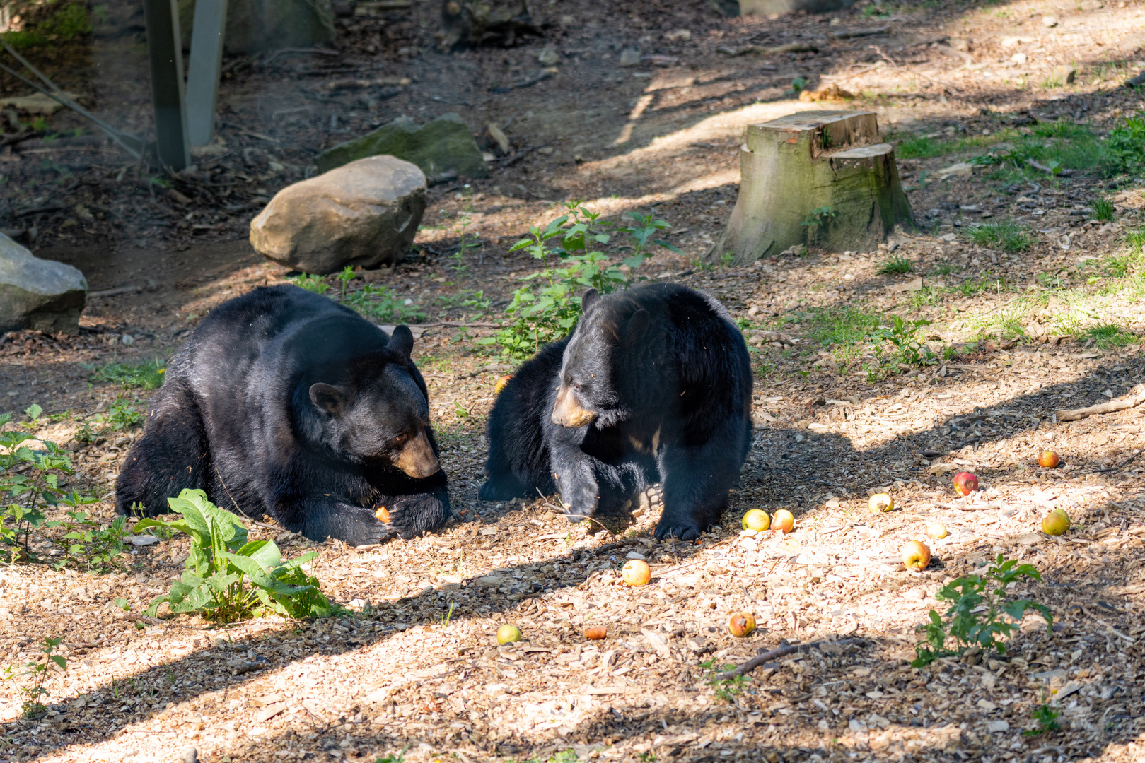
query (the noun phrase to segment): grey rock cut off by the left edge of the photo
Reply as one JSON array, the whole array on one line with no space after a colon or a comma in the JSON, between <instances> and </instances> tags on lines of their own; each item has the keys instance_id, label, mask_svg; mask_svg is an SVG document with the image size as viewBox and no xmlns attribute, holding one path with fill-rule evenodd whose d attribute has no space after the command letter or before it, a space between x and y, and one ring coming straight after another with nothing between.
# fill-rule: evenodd
<instances>
[{"instance_id":1,"label":"grey rock cut off by the left edge of the photo","mask_svg":"<svg viewBox=\"0 0 1145 763\"><path fill-rule=\"evenodd\" d=\"M79 329L87 279L71 265L40 260L0 233L0 332Z\"/></svg>"}]
</instances>

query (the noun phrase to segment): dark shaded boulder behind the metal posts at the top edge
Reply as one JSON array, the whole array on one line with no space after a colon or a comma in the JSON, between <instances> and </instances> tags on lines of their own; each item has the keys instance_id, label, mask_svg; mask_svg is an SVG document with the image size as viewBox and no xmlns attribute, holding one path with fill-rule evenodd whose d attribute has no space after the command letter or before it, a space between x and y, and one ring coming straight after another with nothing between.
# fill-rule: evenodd
<instances>
[{"instance_id":1,"label":"dark shaded boulder behind the metal posts at the top edge","mask_svg":"<svg viewBox=\"0 0 1145 763\"><path fill-rule=\"evenodd\" d=\"M195 0L179 0L179 29L183 47L191 46ZM334 45L334 11L331 0L229 0L227 55L311 48Z\"/></svg>"}]
</instances>

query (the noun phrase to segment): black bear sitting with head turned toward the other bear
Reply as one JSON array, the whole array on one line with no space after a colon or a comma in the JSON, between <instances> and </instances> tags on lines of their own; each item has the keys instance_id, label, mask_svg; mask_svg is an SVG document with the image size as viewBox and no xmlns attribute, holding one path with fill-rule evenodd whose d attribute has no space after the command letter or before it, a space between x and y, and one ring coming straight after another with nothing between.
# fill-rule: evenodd
<instances>
[{"instance_id":1,"label":"black bear sitting with head turned toward the other bear","mask_svg":"<svg viewBox=\"0 0 1145 763\"><path fill-rule=\"evenodd\" d=\"M695 540L751 445L751 360L719 302L678 284L599 296L528 360L489 416L485 501L560 490L569 517L661 483L656 538Z\"/></svg>"}]
</instances>

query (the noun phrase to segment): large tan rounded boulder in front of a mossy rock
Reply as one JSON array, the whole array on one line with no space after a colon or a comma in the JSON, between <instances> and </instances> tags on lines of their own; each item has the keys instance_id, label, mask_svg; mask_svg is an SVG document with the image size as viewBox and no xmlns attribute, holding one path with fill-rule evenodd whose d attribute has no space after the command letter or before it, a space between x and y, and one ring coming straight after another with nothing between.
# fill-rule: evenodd
<instances>
[{"instance_id":1,"label":"large tan rounded boulder in front of a mossy rock","mask_svg":"<svg viewBox=\"0 0 1145 763\"><path fill-rule=\"evenodd\" d=\"M401 261L426 210L426 177L394 157L369 157L287 185L251 221L262 256L308 273Z\"/></svg>"}]
</instances>

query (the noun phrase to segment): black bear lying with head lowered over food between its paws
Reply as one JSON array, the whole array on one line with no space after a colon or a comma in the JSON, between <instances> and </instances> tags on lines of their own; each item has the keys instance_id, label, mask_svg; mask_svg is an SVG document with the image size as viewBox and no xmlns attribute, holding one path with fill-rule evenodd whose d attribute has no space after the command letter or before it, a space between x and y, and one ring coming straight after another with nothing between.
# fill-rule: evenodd
<instances>
[{"instance_id":1,"label":"black bear lying with head lowered over food between its paws","mask_svg":"<svg viewBox=\"0 0 1145 763\"><path fill-rule=\"evenodd\" d=\"M449 493L412 348L406 326L387 337L297 286L220 304L167 365L116 510L165 514L192 487L311 540L361 546L440 528Z\"/></svg>"}]
</instances>

